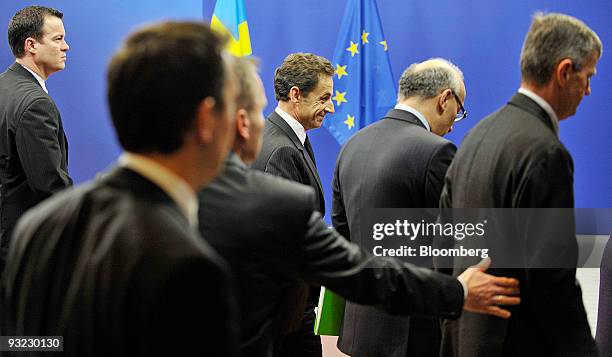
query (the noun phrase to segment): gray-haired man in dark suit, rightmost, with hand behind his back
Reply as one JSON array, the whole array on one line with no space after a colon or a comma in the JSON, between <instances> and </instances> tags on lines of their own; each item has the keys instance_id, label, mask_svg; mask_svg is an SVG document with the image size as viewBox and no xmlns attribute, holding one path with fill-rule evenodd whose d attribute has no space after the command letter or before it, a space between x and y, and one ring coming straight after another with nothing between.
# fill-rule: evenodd
<instances>
[{"instance_id":1,"label":"gray-haired man in dark suit, rightmost, with hand behind his back","mask_svg":"<svg viewBox=\"0 0 612 357\"><path fill-rule=\"evenodd\" d=\"M504 249L501 258L519 250L520 261L494 272L520 281L522 303L508 320L466 313L446 323L445 355L597 355L575 277L573 162L558 130L559 120L574 115L590 94L601 53L599 37L580 20L536 14L521 52L518 93L473 128L457 151L441 207L522 212L488 242ZM555 212L569 214L546 220ZM456 262L456 273L462 265Z\"/></svg>"}]
</instances>

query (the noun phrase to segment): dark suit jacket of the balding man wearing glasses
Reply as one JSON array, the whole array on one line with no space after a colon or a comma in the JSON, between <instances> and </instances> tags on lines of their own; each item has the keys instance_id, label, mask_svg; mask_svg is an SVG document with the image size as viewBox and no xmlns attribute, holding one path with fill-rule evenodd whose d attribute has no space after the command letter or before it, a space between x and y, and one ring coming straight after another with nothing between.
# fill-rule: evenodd
<instances>
[{"instance_id":1,"label":"dark suit jacket of the balding man wearing glasses","mask_svg":"<svg viewBox=\"0 0 612 357\"><path fill-rule=\"evenodd\" d=\"M355 134L340 152L332 185L334 227L363 245L371 234L361 231L368 208L437 208L455 150L411 113L391 110ZM433 266L431 259L412 262ZM435 319L393 316L348 303L338 346L354 356L437 357L440 327Z\"/></svg>"}]
</instances>

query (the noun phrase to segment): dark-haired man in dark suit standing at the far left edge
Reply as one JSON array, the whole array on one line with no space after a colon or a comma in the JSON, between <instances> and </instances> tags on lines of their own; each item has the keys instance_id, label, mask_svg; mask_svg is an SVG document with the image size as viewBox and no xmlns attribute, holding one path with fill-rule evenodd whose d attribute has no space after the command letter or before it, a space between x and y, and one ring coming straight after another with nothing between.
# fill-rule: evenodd
<instances>
[{"instance_id":1,"label":"dark-haired man in dark suit standing at the far left edge","mask_svg":"<svg viewBox=\"0 0 612 357\"><path fill-rule=\"evenodd\" d=\"M45 81L66 66L63 14L18 11L8 27L15 63L0 74L0 276L19 217L72 185L68 142Z\"/></svg>"}]
</instances>

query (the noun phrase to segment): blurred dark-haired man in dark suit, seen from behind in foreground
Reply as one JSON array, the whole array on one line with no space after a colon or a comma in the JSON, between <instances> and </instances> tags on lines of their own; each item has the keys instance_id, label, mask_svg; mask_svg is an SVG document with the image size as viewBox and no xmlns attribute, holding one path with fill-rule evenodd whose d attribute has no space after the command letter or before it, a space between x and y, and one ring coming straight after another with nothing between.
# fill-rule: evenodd
<instances>
[{"instance_id":1,"label":"blurred dark-haired man in dark suit, seen from behind in foreground","mask_svg":"<svg viewBox=\"0 0 612 357\"><path fill-rule=\"evenodd\" d=\"M63 336L69 356L234 355L228 268L195 232L195 192L233 142L235 83L222 48L198 23L128 37L108 69L125 153L20 220L0 335Z\"/></svg>"}]
</instances>

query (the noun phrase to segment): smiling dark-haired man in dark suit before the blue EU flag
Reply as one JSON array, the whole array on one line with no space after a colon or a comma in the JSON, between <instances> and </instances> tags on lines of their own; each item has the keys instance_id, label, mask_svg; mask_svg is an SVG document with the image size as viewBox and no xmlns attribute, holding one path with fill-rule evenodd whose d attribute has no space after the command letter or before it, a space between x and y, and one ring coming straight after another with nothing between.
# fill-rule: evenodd
<instances>
[{"instance_id":1,"label":"smiling dark-haired man in dark suit before the blue EU flag","mask_svg":"<svg viewBox=\"0 0 612 357\"><path fill-rule=\"evenodd\" d=\"M321 127L332 102L334 67L329 60L311 54L294 53L274 73L274 95L278 106L268 116L263 146L253 168L312 187L315 207L325 214L323 186L317 172L310 139L306 132ZM299 283L287 298L288 334L279 356L321 356L321 341L314 335L314 308L319 288ZM305 308L304 308L305 306Z\"/></svg>"}]
</instances>

